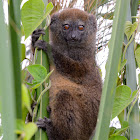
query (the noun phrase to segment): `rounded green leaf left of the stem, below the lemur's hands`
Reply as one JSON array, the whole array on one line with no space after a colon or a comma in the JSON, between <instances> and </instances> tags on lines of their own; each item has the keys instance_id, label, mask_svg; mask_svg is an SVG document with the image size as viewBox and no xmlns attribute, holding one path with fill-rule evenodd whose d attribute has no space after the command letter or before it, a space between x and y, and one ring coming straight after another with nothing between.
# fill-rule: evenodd
<instances>
[{"instance_id":1,"label":"rounded green leaf left of the stem, below the lemur's hands","mask_svg":"<svg viewBox=\"0 0 140 140\"><path fill-rule=\"evenodd\" d=\"M33 78L36 81L43 81L45 77L47 76L47 70L44 66L35 64L35 65L30 65L27 67L29 73L33 76Z\"/></svg>"}]
</instances>

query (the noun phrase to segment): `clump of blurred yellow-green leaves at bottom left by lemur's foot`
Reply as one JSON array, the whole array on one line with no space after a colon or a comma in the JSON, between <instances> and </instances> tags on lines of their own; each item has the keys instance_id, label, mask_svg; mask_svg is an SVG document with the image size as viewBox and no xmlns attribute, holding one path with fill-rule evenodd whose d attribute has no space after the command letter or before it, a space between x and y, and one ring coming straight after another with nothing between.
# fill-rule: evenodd
<instances>
[{"instance_id":1,"label":"clump of blurred yellow-green leaves at bottom left by lemur's foot","mask_svg":"<svg viewBox=\"0 0 140 140\"><path fill-rule=\"evenodd\" d=\"M25 124L22 120L17 120L17 128L16 134L20 135L19 139L23 140L31 140L32 136L38 130L37 125L35 123L27 123Z\"/></svg>"}]
</instances>

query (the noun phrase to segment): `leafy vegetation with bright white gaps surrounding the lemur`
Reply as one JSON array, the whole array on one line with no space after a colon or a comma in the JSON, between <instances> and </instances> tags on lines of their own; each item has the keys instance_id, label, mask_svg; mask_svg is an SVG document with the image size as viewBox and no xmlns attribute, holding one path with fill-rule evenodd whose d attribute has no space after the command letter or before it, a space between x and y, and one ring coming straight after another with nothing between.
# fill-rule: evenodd
<instances>
[{"instance_id":1,"label":"leafy vegetation with bright white gaps surrounding the lemur","mask_svg":"<svg viewBox=\"0 0 140 140\"><path fill-rule=\"evenodd\" d=\"M5 20L3 10L6 8L3 5L5 2L8 3L8 20ZM49 25L50 22L49 14L66 7L84 9L97 17L96 53L102 69L104 87L94 139L140 139L138 100L140 1L29 0L23 3L22 0L0 1L0 13L2 13L0 17L0 112L2 114L0 134L2 139L47 139L43 131L37 131L34 122L38 117L47 116L48 89L51 85L48 80L51 74L48 72L48 58L42 51L36 51L33 58L30 55L30 47L28 45L25 47L26 41L22 41L21 44L21 40L25 40L37 27L46 28L46 24ZM44 39L49 41L48 29ZM27 40L30 40L30 37ZM108 51L110 53L106 64ZM23 63L25 66L20 68ZM43 74L38 77L38 73ZM37 105L32 112L30 106L35 100ZM25 124L28 112L33 115L33 119L32 122ZM116 116L119 119L119 128L116 126L109 128L110 120Z\"/></svg>"}]
</instances>

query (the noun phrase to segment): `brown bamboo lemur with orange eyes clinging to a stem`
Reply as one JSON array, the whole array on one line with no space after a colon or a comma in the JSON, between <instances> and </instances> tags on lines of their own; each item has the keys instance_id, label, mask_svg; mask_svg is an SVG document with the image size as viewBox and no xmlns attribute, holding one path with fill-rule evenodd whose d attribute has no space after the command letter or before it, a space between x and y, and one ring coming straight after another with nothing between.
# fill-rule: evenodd
<instances>
[{"instance_id":1,"label":"brown bamboo lemur with orange eyes clinging to a stem","mask_svg":"<svg viewBox=\"0 0 140 140\"><path fill-rule=\"evenodd\" d=\"M47 53L42 30L32 35L33 47ZM96 19L78 9L52 15L50 45L50 119L39 119L49 140L89 140L96 127L102 82L95 62Z\"/></svg>"}]
</instances>

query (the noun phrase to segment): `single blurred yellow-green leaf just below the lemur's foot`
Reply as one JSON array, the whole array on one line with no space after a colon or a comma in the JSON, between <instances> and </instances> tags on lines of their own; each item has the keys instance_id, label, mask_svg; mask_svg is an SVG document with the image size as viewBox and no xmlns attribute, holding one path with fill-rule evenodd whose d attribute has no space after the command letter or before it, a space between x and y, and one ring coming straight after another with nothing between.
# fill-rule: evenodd
<instances>
[{"instance_id":1,"label":"single blurred yellow-green leaf just below the lemur's foot","mask_svg":"<svg viewBox=\"0 0 140 140\"><path fill-rule=\"evenodd\" d=\"M32 136L37 132L38 128L35 123L28 123L25 125L25 137L23 140L30 140Z\"/></svg>"}]
</instances>

